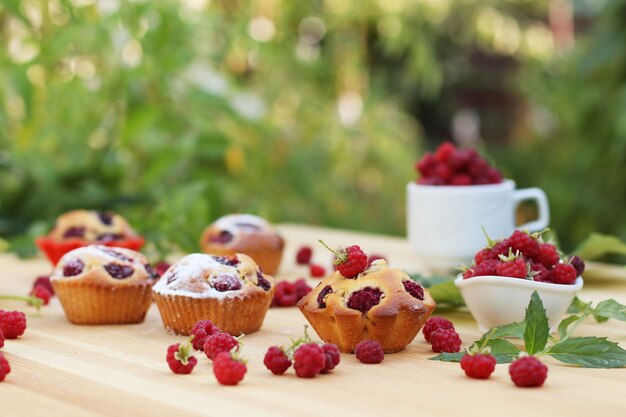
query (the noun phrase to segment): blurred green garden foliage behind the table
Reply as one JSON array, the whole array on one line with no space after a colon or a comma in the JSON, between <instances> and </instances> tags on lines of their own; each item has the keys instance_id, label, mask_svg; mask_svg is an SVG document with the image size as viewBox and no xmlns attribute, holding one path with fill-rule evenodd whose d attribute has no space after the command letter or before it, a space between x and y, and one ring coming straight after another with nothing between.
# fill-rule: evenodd
<instances>
[{"instance_id":1,"label":"blurred green garden foliage behind the table","mask_svg":"<svg viewBox=\"0 0 626 417\"><path fill-rule=\"evenodd\" d=\"M559 53L547 7L5 1L0 236L32 253L77 207L123 213L162 251L195 249L230 212L401 235L413 164L444 139L425 126L450 120L479 51L516 65L488 83L553 123L478 146L546 190L565 247L625 238L626 0L587 10L592 29Z\"/></svg>"}]
</instances>

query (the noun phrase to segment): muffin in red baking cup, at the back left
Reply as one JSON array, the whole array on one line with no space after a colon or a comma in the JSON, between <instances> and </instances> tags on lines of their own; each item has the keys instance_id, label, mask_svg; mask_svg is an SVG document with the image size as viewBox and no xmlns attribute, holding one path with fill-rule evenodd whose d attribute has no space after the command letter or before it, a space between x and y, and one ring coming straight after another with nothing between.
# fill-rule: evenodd
<instances>
[{"instance_id":1,"label":"muffin in red baking cup, at the back left","mask_svg":"<svg viewBox=\"0 0 626 417\"><path fill-rule=\"evenodd\" d=\"M60 216L52 231L37 245L56 264L67 252L98 244L139 250L144 239L126 219L111 211L74 210Z\"/></svg>"}]
</instances>

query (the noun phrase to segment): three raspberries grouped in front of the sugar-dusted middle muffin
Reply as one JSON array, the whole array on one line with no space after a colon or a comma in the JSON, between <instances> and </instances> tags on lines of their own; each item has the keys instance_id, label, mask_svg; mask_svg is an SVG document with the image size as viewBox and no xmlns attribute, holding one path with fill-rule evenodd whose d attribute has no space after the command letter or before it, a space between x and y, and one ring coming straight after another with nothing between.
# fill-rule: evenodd
<instances>
[{"instance_id":1,"label":"three raspberries grouped in front of the sugar-dusted middle muffin","mask_svg":"<svg viewBox=\"0 0 626 417\"><path fill-rule=\"evenodd\" d=\"M192 349L204 351L213 361L213 374L221 385L237 385L247 371L246 361L239 357L239 340L223 333L210 320L201 320L191 329L187 343L175 343L167 348L166 361L172 372L189 374L198 364Z\"/></svg>"}]
</instances>

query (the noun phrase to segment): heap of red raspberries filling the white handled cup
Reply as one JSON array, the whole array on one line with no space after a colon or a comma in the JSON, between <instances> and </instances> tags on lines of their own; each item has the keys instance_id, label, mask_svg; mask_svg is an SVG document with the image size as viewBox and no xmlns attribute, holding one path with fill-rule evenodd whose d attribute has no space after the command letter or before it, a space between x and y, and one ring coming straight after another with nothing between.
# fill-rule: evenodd
<instances>
[{"instance_id":1,"label":"heap of red raspberries filling the white handled cup","mask_svg":"<svg viewBox=\"0 0 626 417\"><path fill-rule=\"evenodd\" d=\"M418 184L422 185L483 185L502 182L502 174L474 149L457 149L444 142L434 154L426 152L416 163Z\"/></svg>"}]
</instances>

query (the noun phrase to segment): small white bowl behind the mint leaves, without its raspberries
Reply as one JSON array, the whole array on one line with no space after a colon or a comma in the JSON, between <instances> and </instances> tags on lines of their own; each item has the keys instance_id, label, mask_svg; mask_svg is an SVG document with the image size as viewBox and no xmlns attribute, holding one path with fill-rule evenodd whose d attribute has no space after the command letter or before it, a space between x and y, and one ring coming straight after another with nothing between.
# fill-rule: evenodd
<instances>
[{"instance_id":1,"label":"small white bowl behind the mint leaves, without its raspberries","mask_svg":"<svg viewBox=\"0 0 626 417\"><path fill-rule=\"evenodd\" d=\"M454 284L483 333L492 327L524 320L533 291L541 297L550 329L554 331L583 287L583 279L578 277L574 284L564 285L492 275L464 279L459 274Z\"/></svg>"}]
</instances>

